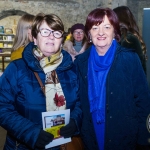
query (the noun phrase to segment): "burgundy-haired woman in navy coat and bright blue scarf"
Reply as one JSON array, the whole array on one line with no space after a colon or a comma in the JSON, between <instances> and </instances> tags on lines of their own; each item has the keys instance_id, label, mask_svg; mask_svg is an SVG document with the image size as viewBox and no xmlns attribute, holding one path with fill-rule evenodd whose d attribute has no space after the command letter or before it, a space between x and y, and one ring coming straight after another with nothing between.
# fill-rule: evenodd
<instances>
[{"instance_id":1,"label":"burgundy-haired woman in navy coat and bright blue scarf","mask_svg":"<svg viewBox=\"0 0 150 150\"><path fill-rule=\"evenodd\" d=\"M138 55L118 44L110 8L92 10L85 33L92 45L75 59L86 150L134 150L150 145L150 91Z\"/></svg>"}]
</instances>

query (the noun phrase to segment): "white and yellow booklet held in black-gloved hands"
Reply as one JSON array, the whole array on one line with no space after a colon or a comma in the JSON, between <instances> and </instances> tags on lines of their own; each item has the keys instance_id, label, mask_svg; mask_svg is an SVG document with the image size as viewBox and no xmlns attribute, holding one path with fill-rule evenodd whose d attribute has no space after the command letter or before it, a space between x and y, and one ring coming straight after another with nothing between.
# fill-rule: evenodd
<instances>
[{"instance_id":1,"label":"white and yellow booklet held in black-gloved hands","mask_svg":"<svg viewBox=\"0 0 150 150\"><path fill-rule=\"evenodd\" d=\"M54 140L50 142L45 148L51 148L61 144L71 142L70 138L60 136L60 128L69 123L70 109L42 112L43 130L54 135Z\"/></svg>"}]
</instances>

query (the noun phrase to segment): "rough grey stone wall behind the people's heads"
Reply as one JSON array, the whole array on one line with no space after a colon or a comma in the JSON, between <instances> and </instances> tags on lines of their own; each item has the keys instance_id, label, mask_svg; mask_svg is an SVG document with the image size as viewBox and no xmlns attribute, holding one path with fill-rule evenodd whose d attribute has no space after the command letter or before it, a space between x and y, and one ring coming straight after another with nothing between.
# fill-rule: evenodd
<instances>
[{"instance_id":1,"label":"rough grey stone wall behind the people's heads","mask_svg":"<svg viewBox=\"0 0 150 150\"><path fill-rule=\"evenodd\" d=\"M61 17L67 31L74 23L84 24L88 13L97 7L115 8L121 5L129 6L142 30L143 8L150 7L149 0L0 0L0 25L11 28L18 21L21 14L11 15L11 11L34 15L39 12L55 13Z\"/></svg>"}]
</instances>

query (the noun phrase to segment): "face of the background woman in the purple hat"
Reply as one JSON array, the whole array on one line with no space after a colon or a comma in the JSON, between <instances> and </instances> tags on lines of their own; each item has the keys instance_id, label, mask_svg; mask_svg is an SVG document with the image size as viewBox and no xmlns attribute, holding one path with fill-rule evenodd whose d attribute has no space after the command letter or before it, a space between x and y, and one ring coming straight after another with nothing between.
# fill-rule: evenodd
<instances>
[{"instance_id":1,"label":"face of the background woman in the purple hat","mask_svg":"<svg viewBox=\"0 0 150 150\"><path fill-rule=\"evenodd\" d=\"M84 38L84 31L82 29L74 30L73 37L77 42L81 42Z\"/></svg>"}]
</instances>

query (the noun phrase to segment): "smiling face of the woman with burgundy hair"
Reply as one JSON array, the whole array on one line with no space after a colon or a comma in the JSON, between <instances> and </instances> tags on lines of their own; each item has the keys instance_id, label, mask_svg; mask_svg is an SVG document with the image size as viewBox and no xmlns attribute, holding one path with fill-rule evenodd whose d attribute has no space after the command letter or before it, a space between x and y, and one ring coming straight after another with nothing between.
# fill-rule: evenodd
<instances>
[{"instance_id":1,"label":"smiling face of the woman with burgundy hair","mask_svg":"<svg viewBox=\"0 0 150 150\"><path fill-rule=\"evenodd\" d=\"M115 36L114 28L110 24L108 17L105 15L101 24L93 25L89 34L98 54L105 55Z\"/></svg>"}]
</instances>

